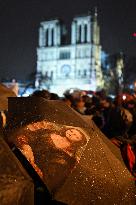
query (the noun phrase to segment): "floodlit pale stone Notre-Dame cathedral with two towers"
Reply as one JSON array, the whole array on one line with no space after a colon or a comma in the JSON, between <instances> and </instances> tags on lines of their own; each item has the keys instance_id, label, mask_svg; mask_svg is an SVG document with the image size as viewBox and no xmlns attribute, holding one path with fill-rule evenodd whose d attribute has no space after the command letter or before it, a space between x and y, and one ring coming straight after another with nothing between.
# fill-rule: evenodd
<instances>
[{"instance_id":1,"label":"floodlit pale stone Notre-Dame cathedral with two towers","mask_svg":"<svg viewBox=\"0 0 136 205\"><path fill-rule=\"evenodd\" d=\"M69 88L102 88L97 12L93 16L78 16L73 19L70 43L65 42L65 31L64 25L58 19L40 24L37 73L44 79L40 86L60 95Z\"/></svg>"}]
</instances>

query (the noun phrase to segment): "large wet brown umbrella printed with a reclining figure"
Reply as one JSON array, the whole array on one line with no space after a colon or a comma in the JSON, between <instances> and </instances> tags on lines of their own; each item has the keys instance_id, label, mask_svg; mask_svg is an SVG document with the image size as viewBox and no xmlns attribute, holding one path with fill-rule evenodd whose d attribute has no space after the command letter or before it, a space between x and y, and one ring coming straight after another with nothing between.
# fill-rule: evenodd
<instances>
[{"instance_id":1,"label":"large wet brown umbrella printed with a reclining figure","mask_svg":"<svg viewBox=\"0 0 136 205\"><path fill-rule=\"evenodd\" d=\"M92 123L60 101L9 99L10 141L53 197L69 205L135 204L132 176L120 153Z\"/></svg>"}]
</instances>

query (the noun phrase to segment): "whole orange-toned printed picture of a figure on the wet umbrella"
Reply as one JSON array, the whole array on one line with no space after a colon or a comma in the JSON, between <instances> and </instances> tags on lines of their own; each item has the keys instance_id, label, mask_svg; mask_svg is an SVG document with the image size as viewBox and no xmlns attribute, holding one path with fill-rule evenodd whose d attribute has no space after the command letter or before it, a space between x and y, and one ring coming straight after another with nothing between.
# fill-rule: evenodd
<instances>
[{"instance_id":1,"label":"whole orange-toned printed picture of a figure on the wet umbrella","mask_svg":"<svg viewBox=\"0 0 136 205\"><path fill-rule=\"evenodd\" d=\"M15 133L15 144L51 191L79 162L88 136L79 127L41 121Z\"/></svg>"}]
</instances>

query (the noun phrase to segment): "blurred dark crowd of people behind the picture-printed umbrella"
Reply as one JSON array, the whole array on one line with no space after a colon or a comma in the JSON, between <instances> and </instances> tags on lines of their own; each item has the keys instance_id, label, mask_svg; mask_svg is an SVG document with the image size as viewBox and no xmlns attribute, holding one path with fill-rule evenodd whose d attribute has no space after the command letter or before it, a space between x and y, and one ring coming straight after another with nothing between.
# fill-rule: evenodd
<instances>
[{"instance_id":1,"label":"blurred dark crowd of people behind the picture-printed umbrella","mask_svg":"<svg viewBox=\"0 0 136 205\"><path fill-rule=\"evenodd\" d=\"M131 173L136 175L136 96L119 94L106 96L104 91L88 95L85 91L67 90L60 98L47 90L37 90L31 96L47 100L62 100L81 115L87 115L97 127L120 148Z\"/></svg>"}]
</instances>

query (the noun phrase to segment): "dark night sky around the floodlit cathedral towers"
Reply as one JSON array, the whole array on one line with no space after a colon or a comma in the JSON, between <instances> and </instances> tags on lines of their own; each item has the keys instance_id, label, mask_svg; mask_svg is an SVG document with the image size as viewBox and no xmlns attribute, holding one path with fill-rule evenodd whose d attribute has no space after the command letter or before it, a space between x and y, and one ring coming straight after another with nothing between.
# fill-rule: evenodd
<instances>
[{"instance_id":1,"label":"dark night sky around the floodlit cathedral towers","mask_svg":"<svg viewBox=\"0 0 136 205\"><path fill-rule=\"evenodd\" d=\"M26 80L36 70L41 21L58 17L69 26L95 6L103 50L136 56L136 0L0 0L0 78Z\"/></svg>"}]
</instances>

